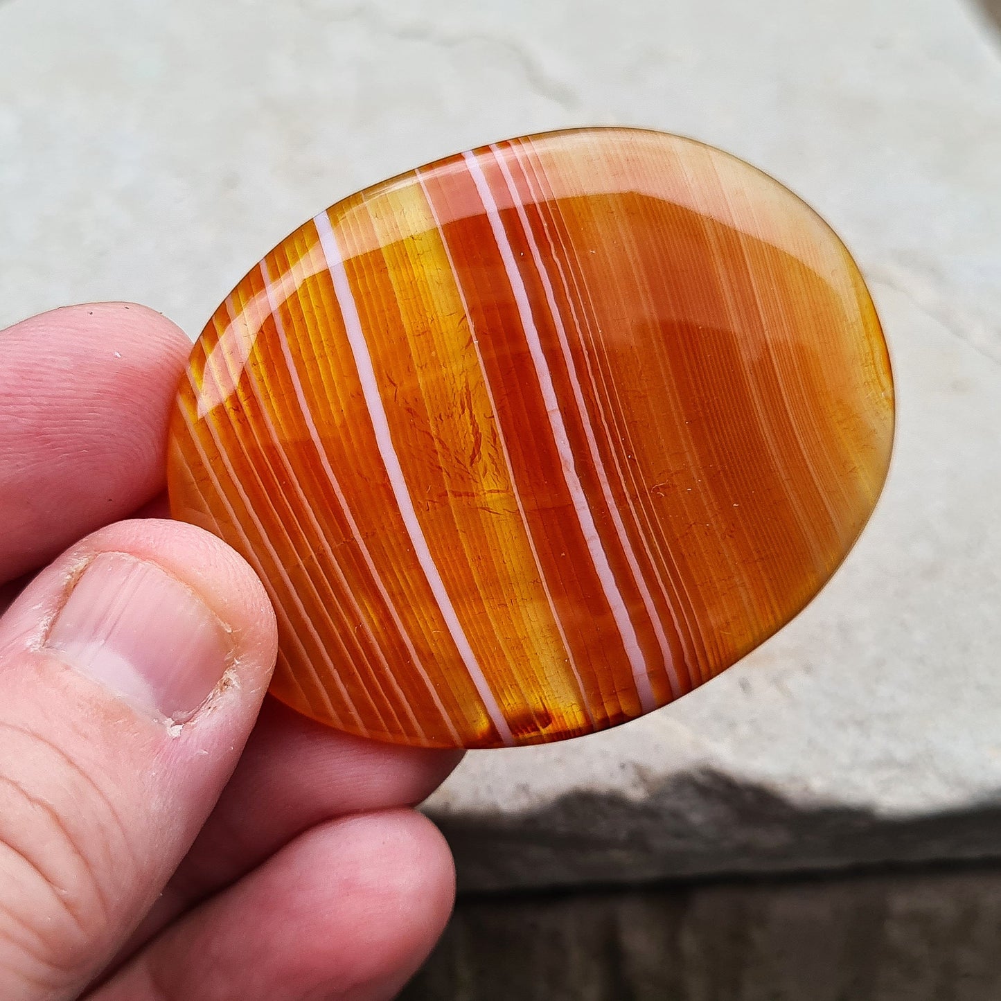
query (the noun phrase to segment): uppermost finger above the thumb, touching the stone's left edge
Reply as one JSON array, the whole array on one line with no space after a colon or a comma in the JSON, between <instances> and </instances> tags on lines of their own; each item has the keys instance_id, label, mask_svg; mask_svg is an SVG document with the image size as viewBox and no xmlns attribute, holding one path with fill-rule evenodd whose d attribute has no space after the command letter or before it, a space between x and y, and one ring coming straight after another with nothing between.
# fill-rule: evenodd
<instances>
[{"instance_id":1,"label":"uppermost finger above the thumb, touching the stone's left edge","mask_svg":"<svg viewBox=\"0 0 1001 1001\"><path fill-rule=\"evenodd\" d=\"M167 421L190 341L122 302L0 331L0 583L162 490Z\"/></svg>"}]
</instances>

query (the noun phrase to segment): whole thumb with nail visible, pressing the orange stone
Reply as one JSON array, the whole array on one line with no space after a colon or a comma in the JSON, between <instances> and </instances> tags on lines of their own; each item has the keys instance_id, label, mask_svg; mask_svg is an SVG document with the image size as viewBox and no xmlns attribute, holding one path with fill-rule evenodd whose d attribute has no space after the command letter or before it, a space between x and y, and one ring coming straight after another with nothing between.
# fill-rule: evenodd
<instances>
[{"instance_id":1,"label":"whole thumb with nail visible, pressing the orange stone","mask_svg":"<svg viewBox=\"0 0 1001 1001\"><path fill-rule=\"evenodd\" d=\"M123 522L0 619L0 997L74 997L180 862L253 726L274 617L191 526Z\"/></svg>"}]
</instances>

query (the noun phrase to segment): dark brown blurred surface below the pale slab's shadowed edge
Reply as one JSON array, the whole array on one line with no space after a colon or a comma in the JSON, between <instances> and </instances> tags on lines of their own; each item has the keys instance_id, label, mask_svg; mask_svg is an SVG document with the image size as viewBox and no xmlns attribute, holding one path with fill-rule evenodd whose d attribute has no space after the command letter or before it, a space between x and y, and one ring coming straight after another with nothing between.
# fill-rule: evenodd
<instances>
[{"instance_id":1,"label":"dark brown blurred surface below the pale slab's shadowed edge","mask_svg":"<svg viewBox=\"0 0 1001 1001\"><path fill-rule=\"evenodd\" d=\"M997 1001L1001 867L459 900L401 1001Z\"/></svg>"}]
</instances>

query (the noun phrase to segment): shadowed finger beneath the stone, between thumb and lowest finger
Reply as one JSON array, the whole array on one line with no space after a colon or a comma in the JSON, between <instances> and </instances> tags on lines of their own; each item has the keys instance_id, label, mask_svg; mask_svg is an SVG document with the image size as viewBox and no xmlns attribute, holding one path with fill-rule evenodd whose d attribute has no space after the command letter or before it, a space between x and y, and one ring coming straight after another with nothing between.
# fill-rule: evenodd
<instances>
[{"instance_id":1,"label":"shadowed finger beneath the stone, between thumb and lowest finger","mask_svg":"<svg viewBox=\"0 0 1001 1001\"><path fill-rule=\"evenodd\" d=\"M461 752L396 747L338 733L265 700L218 805L126 953L308 828L347 814L419 803L460 759Z\"/></svg>"}]
</instances>

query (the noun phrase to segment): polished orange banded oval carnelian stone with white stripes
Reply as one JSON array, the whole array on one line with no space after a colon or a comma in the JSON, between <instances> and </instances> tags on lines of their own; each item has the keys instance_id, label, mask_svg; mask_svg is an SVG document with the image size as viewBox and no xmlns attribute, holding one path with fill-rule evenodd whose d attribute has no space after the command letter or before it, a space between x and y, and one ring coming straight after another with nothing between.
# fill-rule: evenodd
<instances>
[{"instance_id":1,"label":"polished orange banded oval carnelian stone with white stripes","mask_svg":"<svg viewBox=\"0 0 1001 1001\"><path fill-rule=\"evenodd\" d=\"M698 142L582 129L282 240L195 345L170 500L267 587L280 700L382 741L532 744L788 622L892 436L872 301L810 208Z\"/></svg>"}]
</instances>

